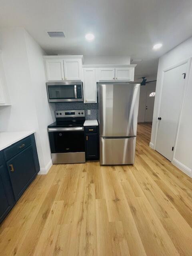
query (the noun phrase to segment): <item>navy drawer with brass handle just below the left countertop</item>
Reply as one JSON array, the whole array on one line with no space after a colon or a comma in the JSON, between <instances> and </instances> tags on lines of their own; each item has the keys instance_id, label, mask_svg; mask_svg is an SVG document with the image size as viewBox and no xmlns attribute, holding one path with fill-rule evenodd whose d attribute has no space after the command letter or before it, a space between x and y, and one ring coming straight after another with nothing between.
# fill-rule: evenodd
<instances>
[{"instance_id":1,"label":"navy drawer with brass handle just below the left countertop","mask_svg":"<svg viewBox=\"0 0 192 256\"><path fill-rule=\"evenodd\" d=\"M4 150L4 157L5 160L8 160L27 148L30 144L32 144L31 137L28 136L27 138L24 138L23 140L20 140L19 142L16 142L12 146L6 148Z\"/></svg>"}]
</instances>

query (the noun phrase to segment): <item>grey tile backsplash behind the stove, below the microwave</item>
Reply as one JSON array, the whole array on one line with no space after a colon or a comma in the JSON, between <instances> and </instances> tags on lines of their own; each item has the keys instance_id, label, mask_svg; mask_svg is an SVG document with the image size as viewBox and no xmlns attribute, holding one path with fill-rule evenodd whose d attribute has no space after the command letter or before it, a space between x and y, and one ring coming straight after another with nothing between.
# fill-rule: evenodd
<instances>
[{"instance_id":1,"label":"grey tile backsplash behind the stove, below the microwave","mask_svg":"<svg viewBox=\"0 0 192 256\"><path fill-rule=\"evenodd\" d=\"M85 110L85 119L98 119L98 104L83 102L59 102L55 104L55 110ZM91 110L91 114L87 114L87 110Z\"/></svg>"}]
</instances>

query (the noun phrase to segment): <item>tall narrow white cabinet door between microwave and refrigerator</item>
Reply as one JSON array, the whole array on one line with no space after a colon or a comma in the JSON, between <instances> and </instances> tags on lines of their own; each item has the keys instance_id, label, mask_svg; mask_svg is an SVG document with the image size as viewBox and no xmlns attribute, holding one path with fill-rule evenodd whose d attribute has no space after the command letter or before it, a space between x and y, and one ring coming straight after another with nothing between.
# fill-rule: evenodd
<instances>
[{"instance_id":1,"label":"tall narrow white cabinet door between microwave and refrigerator","mask_svg":"<svg viewBox=\"0 0 192 256\"><path fill-rule=\"evenodd\" d=\"M97 85L95 77L95 68L84 68L83 76L84 103L96 103Z\"/></svg>"}]
</instances>

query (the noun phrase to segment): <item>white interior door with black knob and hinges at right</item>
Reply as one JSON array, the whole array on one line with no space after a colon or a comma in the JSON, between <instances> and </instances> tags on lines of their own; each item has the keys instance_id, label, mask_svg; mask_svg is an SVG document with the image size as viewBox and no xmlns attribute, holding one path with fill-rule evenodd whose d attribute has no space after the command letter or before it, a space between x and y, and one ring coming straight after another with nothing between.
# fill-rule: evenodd
<instances>
[{"instance_id":1,"label":"white interior door with black knob and hinges at right","mask_svg":"<svg viewBox=\"0 0 192 256\"><path fill-rule=\"evenodd\" d=\"M172 161L187 64L164 72L156 151Z\"/></svg>"}]
</instances>

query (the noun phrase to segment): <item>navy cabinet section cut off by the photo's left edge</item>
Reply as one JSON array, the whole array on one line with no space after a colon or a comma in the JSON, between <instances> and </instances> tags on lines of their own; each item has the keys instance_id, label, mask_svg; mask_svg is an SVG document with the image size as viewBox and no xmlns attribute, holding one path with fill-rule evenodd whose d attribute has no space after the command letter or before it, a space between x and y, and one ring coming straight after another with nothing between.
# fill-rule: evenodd
<instances>
[{"instance_id":1,"label":"navy cabinet section cut off by the photo's left edge","mask_svg":"<svg viewBox=\"0 0 192 256\"><path fill-rule=\"evenodd\" d=\"M7 168L0 152L0 223L15 204Z\"/></svg>"}]
</instances>

